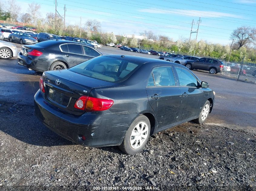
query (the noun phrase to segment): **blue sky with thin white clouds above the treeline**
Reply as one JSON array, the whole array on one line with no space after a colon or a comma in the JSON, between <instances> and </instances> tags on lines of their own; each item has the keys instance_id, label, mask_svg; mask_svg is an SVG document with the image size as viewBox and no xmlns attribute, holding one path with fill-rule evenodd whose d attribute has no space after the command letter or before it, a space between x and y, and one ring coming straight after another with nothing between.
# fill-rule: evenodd
<instances>
[{"instance_id":1,"label":"blue sky with thin white clouds above the treeline","mask_svg":"<svg viewBox=\"0 0 256 191\"><path fill-rule=\"evenodd\" d=\"M55 0L17 0L21 12L26 12L28 4L41 5L41 17L46 13L55 13ZM189 38L199 23L197 40L211 43L228 44L230 34L237 27L256 26L256 0L57 0L57 11L64 15L66 5L66 23L82 25L88 19L101 22L103 32L116 35L139 35L151 30L172 38ZM191 39L196 33L191 34Z\"/></svg>"}]
</instances>

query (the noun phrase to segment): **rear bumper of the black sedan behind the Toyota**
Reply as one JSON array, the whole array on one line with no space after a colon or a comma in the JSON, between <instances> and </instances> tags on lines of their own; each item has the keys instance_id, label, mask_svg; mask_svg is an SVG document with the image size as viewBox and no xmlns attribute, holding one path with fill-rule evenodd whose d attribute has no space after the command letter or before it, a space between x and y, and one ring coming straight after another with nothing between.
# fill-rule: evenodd
<instances>
[{"instance_id":1,"label":"rear bumper of the black sedan behind the Toyota","mask_svg":"<svg viewBox=\"0 0 256 191\"><path fill-rule=\"evenodd\" d=\"M29 56L24 56L22 53L18 53L18 64L25 66L28 69L32 69L38 72L44 72L49 70L48 62L38 61Z\"/></svg>"}]
</instances>

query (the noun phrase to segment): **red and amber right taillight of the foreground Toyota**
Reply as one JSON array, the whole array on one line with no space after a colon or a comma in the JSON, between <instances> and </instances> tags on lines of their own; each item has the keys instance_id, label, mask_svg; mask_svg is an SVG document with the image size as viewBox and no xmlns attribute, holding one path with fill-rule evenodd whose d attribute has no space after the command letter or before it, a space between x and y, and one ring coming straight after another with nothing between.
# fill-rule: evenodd
<instances>
[{"instance_id":1,"label":"red and amber right taillight of the foreground Toyota","mask_svg":"<svg viewBox=\"0 0 256 191\"><path fill-rule=\"evenodd\" d=\"M74 107L85 111L105 111L108 110L114 101L95 97L81 96Z\"/></svg>"}]
</instances>

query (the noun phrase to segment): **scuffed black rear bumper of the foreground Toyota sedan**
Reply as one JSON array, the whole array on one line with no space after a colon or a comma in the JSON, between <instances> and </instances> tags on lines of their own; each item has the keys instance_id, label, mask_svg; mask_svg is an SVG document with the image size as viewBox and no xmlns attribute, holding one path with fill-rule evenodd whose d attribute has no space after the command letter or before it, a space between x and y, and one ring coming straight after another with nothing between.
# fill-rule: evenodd
<instances>
[{"instance_id":1,"label":"scuffed black rear bumper of the foreground Toyota sedan","mask_svg":"<svg viewBox=\"0 0 256 191\"><path fill-rule=\"evenodd\" d=\"M121 145L126 131L136 113L117 115L85 112L75 116L61 112L48 103L40 90L35 94L35 115L53 132L86 147ZM107 115L106 115L107 114ZM81 136L86 140L83 141Z\"/></svg>"}]
</instances>

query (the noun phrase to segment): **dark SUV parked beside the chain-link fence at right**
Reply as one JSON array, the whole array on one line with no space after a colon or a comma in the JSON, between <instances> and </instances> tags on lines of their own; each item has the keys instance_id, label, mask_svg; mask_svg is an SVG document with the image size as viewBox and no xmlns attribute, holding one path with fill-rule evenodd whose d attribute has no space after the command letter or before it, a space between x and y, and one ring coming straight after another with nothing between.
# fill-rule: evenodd
<instances>
[{"instance_id":1,"label":"dark SUV parked beside the chain-link fence at right","mask_svg":"<svg viewBox=\"0 0 256 191\"><path fill-rule=\"evenodd\" d=\"M212 58L200 58L196 61L187 60L184 62L184 65L190 70L206 70L209 71L210 74L217 74L218 72L221 72L222 68L224 68L224 63L221 60Z\"/></svg>"}]
</instances>

